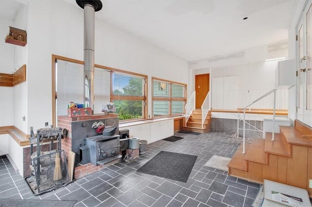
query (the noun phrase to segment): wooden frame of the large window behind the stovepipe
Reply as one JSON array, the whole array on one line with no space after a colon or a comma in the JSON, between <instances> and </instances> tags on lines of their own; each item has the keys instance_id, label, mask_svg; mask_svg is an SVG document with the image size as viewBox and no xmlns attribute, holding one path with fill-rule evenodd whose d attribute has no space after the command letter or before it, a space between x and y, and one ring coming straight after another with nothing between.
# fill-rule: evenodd
<instances>
[{"instance_id":1,"label":"wooden frame of the large window behind the stovepipe","mask_svg":"<svg viewBox=\"0 0 312 207\"><path fill-rule=\"evenodd\" d=\"M56 99L57 99L57 93L56 93L56 62L57 60L62 60L62 61L67 61L67 62L72 62L72 63L78 63L81 65L84 65L84 62L81 60L76 60L76 59L72 59L72 58L68 58L68 57L63 57L63 56L59 56L59 55L55 55L52 54L52 124L53 126L56 126ZM110 91L110 101L112 102L112 100L114 100L114 97L116 98L116 96L119 99L115 99L115 100L140 100L140 101L144 101L145 105L144 107L142 107L142 118L141 119L131 119L131 120L124 120L124 121L137 121L137 120L145 120L148 115L148 76L144 75L144 74L140 74L140 73L136 73L136 72L130 72L127 70L122 70L122 69L115 69L115 68L111 68L111 67L107 67L107 66L101 66L98 64L94 65L95 68L99 68L99 69L105 69L105 70L110 70L111 71L111 91ZM119 96L119 95L113 95L113 82L112 82L112 72L119 72L119 73L124 73L124 74L128 74L128 75L133 75L133 76L139 76L145 79L145 86L144 86L144 96L142 97L137 97L137 96ZM120 99L120 97L122 97L122 99ZM124 122L122 121L122 122Z\"/></svg>"}]
</instances>

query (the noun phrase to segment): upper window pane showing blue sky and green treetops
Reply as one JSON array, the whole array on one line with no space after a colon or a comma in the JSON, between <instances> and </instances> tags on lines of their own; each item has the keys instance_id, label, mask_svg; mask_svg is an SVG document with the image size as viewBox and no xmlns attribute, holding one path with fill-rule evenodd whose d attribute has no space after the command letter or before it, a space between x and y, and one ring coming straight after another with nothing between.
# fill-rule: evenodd
<instances>
[{"instance_id":1,"label":"upper window pane showing blue sky and green treetops","mask_svg":"<svg viewBox=\"0 0 312 207\"><path fill-rule=\"evenodd\" d=\"M143 96L143 78L113 73L113 94Z\"/></svg>"}]
</instances>

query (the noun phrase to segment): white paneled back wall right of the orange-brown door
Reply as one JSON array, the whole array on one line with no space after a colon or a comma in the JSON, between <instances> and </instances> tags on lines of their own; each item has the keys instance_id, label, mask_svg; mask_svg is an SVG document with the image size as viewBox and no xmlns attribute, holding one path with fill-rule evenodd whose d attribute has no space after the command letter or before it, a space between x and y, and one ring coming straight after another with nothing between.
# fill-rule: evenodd
<instances>
[{"instance_id":1,"label":"white paneled back wall right of the orange-brown door","mask_svg":"<svg viewBox=\"0 0 312 207\"><path fill-rule=\"evenodd\" d=\"M237 109L252 103L274 88L277 61L211 68L212 108ZM251 108L272 109L273 94ZM276 109L288 109L288 88L276 91Z\"/></svg>"}]
</instances>

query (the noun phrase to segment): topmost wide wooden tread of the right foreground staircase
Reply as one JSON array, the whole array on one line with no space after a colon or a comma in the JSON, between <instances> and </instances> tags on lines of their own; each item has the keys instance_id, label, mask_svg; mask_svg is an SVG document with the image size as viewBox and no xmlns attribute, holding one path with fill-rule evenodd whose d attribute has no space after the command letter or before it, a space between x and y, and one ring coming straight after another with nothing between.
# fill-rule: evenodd
<instances>
[{"instance_id":1,"label":"topmost wide wooden tread of the right foreground staircase","mask_svg":"<svg viewBox=\"0 0 312 207\"><path fill-rule=\"evenodd\" d=\"M281 134L289 144L312 147L312 138L301 138L302 134L293 126L279 126Z\"/></svg>"}]
</instances>

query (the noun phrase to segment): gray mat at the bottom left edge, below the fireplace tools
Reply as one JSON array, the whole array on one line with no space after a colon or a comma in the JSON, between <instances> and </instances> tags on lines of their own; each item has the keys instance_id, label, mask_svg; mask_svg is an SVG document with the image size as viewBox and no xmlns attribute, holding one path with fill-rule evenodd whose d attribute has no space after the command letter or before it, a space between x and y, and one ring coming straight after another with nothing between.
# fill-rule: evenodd
<instances>
[{"instance_id":1,"label":"gray mat at the bottom left edge, below the fireplace tools","mask_svg":"<svg viewBox=\"0 0 312 207\"><path fill-rule=\"evenodd\" d=\"M0 199L0 207L73 207L77 201Z\"/></svg>"}]
</instances>

